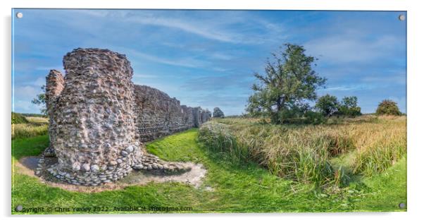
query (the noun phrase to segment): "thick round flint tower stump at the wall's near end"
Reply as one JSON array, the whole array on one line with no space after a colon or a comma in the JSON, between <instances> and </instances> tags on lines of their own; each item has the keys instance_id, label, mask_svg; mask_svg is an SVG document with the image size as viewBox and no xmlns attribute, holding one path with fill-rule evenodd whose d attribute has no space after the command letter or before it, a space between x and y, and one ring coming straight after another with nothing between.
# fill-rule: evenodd
<instances>
[{"instance_id":1,"label":"thick round flint tower stump at the wall's near end","mask_svg":"<svg viewBox=\"0 0 424 223\"><path fill-rule=\"evenodd\" d=\"M63 66L64 80L51 71L46 82L49 136L58 157L49 171L75 184L122 178L141 152L130 62L104 49L75 49L64 56Z\"/></svg>"}]
</instances>

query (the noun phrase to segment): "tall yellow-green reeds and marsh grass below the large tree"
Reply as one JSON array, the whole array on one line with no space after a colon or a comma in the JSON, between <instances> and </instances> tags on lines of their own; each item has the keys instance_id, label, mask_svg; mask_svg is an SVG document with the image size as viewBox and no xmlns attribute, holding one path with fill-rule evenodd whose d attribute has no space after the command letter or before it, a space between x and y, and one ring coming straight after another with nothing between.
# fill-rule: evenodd
<instances>
[{"instance_id":1,"label":"tall yellow-green reeds and marsh grass below the large tree","mask_svg":"<svg viewBox=\"0 0 424 223\"><path fill-rule=\"evenodd\" d=\"M199 140L212 150L254 160L277 176L339 187L349 183L350 174L381 173L406 155L406 117L368 115L318 126L216 119L200 128ZM332 164L348 152L349 165Z\"/></svg>"}]
</instances>

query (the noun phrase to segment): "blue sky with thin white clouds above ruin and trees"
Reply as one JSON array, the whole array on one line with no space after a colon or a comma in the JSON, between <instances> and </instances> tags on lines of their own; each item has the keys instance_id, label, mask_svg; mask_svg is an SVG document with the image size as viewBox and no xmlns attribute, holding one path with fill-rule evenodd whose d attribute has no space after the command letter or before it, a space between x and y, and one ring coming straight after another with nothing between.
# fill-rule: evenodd
<instances>
[{"instance_id":1,"label":"blue sky with thin white clouds above ruin and trees","mask_svg":"<svg viewBox=\"0 0 424 223\"><path fill-rule=\"evenodd\" d=\"M394 100L406 112L405 12L166 11L15 9L13 110L39 113L31 100L50 69L77 47L107 48L127 58L133 81L181 104L242 114L253 73L271 52L301 44L318 57L328 82L318 95L355 95L363 113Z\"/></svg>"}]
</instances>

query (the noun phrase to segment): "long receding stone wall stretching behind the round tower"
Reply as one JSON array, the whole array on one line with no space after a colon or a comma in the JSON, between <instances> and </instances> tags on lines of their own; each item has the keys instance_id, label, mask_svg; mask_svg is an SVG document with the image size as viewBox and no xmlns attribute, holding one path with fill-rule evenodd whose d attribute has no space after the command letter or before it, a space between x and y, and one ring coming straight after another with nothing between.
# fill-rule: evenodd
<instances>
[{"instance_id":1,"label":"long receding stone wall stretching behind the round tower","mask_svg":"<svg viewBox=\"0 0 424 223\"><path fill-rule=\"evenodd\" d=\"M135 101L141 142L199 127L210 119L200 107L180 105L179 100L145 85L135 85Z\"/></svg>"}]
</instances>

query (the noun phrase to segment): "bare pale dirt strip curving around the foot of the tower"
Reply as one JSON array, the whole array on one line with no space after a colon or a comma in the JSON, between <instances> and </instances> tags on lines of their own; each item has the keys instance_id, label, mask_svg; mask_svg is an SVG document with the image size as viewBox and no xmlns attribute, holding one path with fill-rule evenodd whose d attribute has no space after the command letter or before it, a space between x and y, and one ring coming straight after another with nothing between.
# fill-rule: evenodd
<instances>
[{"instance_id":1,"label":"bare pale dirt strip curving around the foot of the tower","mask_svg":"<svg viewBox=\"0 0 424 223\"><path fill-rule=\"evenodd\" d=\"M46 167L57 162L57 158L45 157ZM37 169L37 162L39 157L23 157L16 163L16 171L20 174L37 177L42 183L46 183L49 186L63 188L67 191L78 191L78 192L100 192L100 191L111 191L125 188L126 186L133 185L145 185L149 182L165 183L165 182L180 182L187 183L189 185L198 188L201 185L201 180L206 175L206 169L202 164L194 164L187 162L192 169L182 174L165 175L165 174L154 174L146 171L132 171L132 173L125 176L123 179L113 182L105 183L101 186L77 186L62 181L58 181L54 176L51 176L47 171L42 171L42 176L35 175L35 169Z\"/></svg>"}]
</instances>

